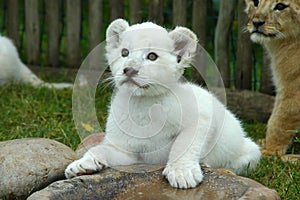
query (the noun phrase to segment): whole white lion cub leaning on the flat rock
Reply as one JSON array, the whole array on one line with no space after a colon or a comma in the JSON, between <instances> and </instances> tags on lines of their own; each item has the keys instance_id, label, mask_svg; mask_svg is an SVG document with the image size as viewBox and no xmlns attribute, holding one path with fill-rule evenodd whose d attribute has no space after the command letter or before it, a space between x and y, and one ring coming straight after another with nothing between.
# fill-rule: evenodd
<instances>
[{"instance_id":1,"label":"whole white lion cub leaning on the flat rock","mask_svg":"<svg viewBox=\"0 0 300 200\"><path fill-rule=\"evenodd\" d=\"M173 187L193 188L203 180L200 163L239 174L255 168L259 147L235 116L208 91L180 81L196 53L192 31L117 19L106 42L117 88L106 136L67 167L67 178L104 167L163 164Z\"/></svg>"}]
</instances>

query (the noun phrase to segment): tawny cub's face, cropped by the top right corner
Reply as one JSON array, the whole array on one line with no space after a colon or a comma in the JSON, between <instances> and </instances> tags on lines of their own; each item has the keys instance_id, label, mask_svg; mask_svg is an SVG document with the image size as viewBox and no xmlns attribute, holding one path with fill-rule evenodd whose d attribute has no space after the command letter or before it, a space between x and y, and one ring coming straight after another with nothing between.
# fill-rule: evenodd
<instances>
[{"instance_id":1,"label":"tawny cub's face, cropped by the top right corner","mask_svg":"<svg viewBox=\"0 0 300 200\"><path fill-rule=\"evenodd\" d=\"M248 30L254 42L296 38L300 35L299 0L245 0Z\"/></svg>"}]
</instances>

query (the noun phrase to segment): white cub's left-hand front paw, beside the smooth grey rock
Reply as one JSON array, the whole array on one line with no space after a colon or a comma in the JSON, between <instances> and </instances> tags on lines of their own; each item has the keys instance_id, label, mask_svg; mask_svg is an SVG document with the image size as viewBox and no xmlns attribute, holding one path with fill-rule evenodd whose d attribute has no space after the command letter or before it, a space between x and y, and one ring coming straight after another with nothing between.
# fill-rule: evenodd
<instances>
[{"instance_id":1,"label":"white cub's left-hand front paw, beside the smooth grey rock","mask_svg":"<svg viewBox=\"0 0 300 200\"><path fill-rule=\"evenodd\" d=\"M65 170L66 178L81 176L84 174L93 174L100 171L104 165L95 160L92 156L84 156L83 158L72 162Z\"/></svg>"}]
</instances>

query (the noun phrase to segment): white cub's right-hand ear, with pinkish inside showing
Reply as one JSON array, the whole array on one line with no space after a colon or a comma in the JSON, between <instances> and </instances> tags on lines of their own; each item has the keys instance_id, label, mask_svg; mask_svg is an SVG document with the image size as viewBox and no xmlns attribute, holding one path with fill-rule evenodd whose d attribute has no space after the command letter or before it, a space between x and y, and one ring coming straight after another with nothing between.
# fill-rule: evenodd
<instances>
[{"instance_id":1,"label":"white cub's right-hand ear, with pinkish inside showing","mask_svg":"<svg viewBox=\"0 0 300 200\"><path fill-rule=\"evenodd\" d=\"M190 62L197 50L197 36L194 32L185 27L176 27L169 32L169 36L174 41L174 53L178 55L177 62L183 59Z\"/></svg>"}]
</instances>

